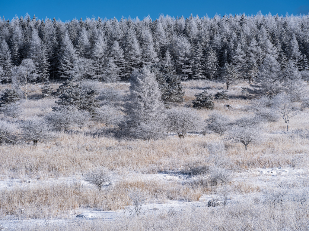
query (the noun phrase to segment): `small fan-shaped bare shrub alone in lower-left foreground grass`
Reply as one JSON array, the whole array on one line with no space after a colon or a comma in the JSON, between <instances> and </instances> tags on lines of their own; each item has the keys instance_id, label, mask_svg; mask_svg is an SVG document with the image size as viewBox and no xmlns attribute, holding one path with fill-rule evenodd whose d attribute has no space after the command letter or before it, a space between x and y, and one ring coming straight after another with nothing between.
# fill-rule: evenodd
<instances>
[{"instance_id":1,"label":"small fan-shaped bare shrub alone in lower-left foreground grass","mask_svg":"<svg viewBox=\"0 0 309 231\"><path fill-rule=\"evenodd\" d=\"M104 183L106 184L108 182L111 182L112 180L114 180L114 178L115 177L112 172L102 166L90 170L84 175L84 180L97 186L99 188L99 191L101 191Z\"/></svg>"}]
</instances>

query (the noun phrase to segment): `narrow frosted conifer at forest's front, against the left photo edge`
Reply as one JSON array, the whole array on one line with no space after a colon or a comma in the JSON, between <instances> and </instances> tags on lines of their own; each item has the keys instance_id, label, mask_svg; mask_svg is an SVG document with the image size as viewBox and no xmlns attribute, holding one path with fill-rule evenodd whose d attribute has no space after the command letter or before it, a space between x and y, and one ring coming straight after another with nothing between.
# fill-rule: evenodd
<instances>
[{"instance_id":1,"label":"narrow frosted conifer at forest's front, against the left photo edge","mask_svg":"<svg viewBox=\"0 0 309 231\"><path fill-rule=\"evenodd\" d=\"M11 51L4 39L0 44L0 66L2 66L4 72L4 80L10 81L12 74Z\"/></svg>"}]
</instances>

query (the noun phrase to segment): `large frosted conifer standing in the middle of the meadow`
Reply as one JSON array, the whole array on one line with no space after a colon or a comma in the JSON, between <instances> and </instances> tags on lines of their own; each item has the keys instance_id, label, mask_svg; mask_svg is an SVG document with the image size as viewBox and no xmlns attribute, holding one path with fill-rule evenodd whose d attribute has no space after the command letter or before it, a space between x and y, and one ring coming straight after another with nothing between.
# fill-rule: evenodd
<instances>
[{"instance_id":1,"label":"large frosted conifer standing in the middle of the meadow","mask_svg":"<svg viewBox=\"0 0 309 231\"><path fill-rule=\"evenodd\" d=\"M163 103L154 74L144 67L135 70L130 81L125 134L145 140L163 138Z\"/></svg>"}]
</instances>

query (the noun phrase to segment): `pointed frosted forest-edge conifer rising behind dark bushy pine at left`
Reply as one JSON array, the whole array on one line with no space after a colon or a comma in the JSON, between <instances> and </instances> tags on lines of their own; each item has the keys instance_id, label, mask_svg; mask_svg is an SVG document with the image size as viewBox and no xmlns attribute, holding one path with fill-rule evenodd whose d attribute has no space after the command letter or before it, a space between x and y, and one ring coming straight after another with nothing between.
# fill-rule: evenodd
<instances>
[{"instance_id":1,"label":"pointed frosted forest-edge conifer rising behind dark bushy pine at left","mask_svg":"<svg viewBox=\"0 0 309 231\"><path fill-rule=\"evenodd\" d=\"M69 78L72 75L74 61L77 59L76 51L66 32L61 43L61 59L60 59L60 72L63 78Z\"/></svg>"}]
</instances>

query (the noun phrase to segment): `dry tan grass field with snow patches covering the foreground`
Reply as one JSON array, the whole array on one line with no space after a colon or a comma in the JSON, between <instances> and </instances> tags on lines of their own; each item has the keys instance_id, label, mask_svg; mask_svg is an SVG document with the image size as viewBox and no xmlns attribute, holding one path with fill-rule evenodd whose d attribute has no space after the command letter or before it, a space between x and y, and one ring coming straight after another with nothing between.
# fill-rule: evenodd
<instances>
[{"instance_id":1,"label":"dry tan grass field with snow patches covering the foreground","mask_svg":"<svg viewBox=\"0 0 309 231\"><path fill-rule=\"evenodd\" d=\"M190 107L197 93L226 89L214 81L182 84L185 101L173 106ZM95 85L99 91L109 87ZM34 84L29 99L20 104L22 115L0 115L16 135L20 120L42 119L52 111L57 98L41 99L40 87ZM206 121L211 113L231 120L254 115L247 110L252 99L242 87L248 83L231 86L231 99L215 101L214 110L193 110ZM114 89L126 95L129 84L118 83ZM260 139L248 150L205 129L183 139L169 134L162 140L131 140L108 135L104 125L95 123L81 131L54 132L53 139L36 146L23 140L1 145L0 225L4 230L309 230L309 111L297 113L288 133L279 114L277 122L263 123ZM207 149L214 142L224 143L222 168L230 174L218 184L211 183L210 173L192 173L201 166L215 168ZM115 176L101 191L83 177L99 166ZM125 212L132 206L128 192L135 189L147 200L141 215L130 216ZM212 198L220 206L207 207ZM100 213L75 218L83 211ZM111 211L115 218L101 217Z\"/></svg>"}]
</instances>

